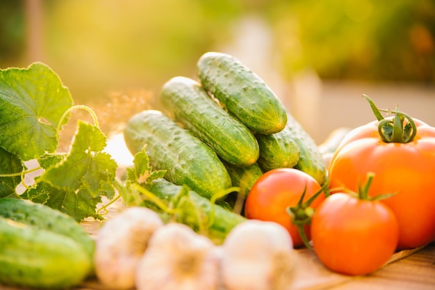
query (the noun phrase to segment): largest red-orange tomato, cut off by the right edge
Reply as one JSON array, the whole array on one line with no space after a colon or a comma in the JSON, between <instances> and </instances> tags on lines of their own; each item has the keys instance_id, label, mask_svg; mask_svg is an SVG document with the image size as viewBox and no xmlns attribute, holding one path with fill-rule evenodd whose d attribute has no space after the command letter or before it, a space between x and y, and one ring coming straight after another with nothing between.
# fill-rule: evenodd
<instances>
[{"instance_id":1,"label":"largest red-orange tomato, cut off by the right edge","mask_svg":"<svg viewBox=\"0 0 435 290\"><path fill-rule=\"evenodd\" d=\"M413 121L417 133L409 143L384 142L378 121L352 130L329 165L330 188L345 186L356 191L366 173L374 172L370 196L397 193L382 202L397 217L400 250L435 240L435 128Z\"/></svg>"}]
</instances>

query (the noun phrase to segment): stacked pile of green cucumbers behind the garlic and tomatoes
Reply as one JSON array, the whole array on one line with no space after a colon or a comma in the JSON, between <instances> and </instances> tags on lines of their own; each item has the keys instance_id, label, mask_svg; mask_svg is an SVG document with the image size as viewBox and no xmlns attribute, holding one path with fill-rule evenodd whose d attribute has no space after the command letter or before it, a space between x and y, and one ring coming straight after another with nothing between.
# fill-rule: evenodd
<instances>
[{"instance_id":1,"label":"stacked pile of green cucumbers behind the garlic and tomatoes","mask_svg":"<svg viewBox=\"0 0 435 290\"><path fill-rule=\"evenodd\" d=\"M162 111L129 119L124 140L133 155L146 146L154 170L206 198L231 186L247 194L274 168L297 168L325 182L318 146L257 74L229 54L207 52L197 76L170 79L161 90Z\"/></svg>"}]
</instances>

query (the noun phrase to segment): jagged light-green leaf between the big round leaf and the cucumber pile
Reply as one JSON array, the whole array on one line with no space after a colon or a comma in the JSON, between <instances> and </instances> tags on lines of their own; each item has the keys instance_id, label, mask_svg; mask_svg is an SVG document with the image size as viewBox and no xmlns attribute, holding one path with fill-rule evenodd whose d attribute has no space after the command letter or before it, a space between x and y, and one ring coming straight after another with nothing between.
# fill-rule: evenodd
<instances>
[{"instance_id":1,"label":"jagged light-green leaf between the big round leaf and the cucumber pile","mask_svg":"<svg viewBox=\"0 0 435 290\"><path fill-rule=\"evenodd\" d=\"M72 191L85 189L93 197L110 195L108 188L115 179L117 163L102 152L106 147L106 136L94 125L81 120L78 127L65 159L48 168L38 182Z\"/></svg>"}]
</instances>

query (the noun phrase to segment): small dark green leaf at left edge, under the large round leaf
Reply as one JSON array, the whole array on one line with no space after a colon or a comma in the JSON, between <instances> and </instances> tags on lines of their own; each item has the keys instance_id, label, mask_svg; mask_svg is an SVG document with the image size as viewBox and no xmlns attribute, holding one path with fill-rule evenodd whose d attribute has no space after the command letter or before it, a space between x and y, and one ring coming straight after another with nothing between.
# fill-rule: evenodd
<instances>
[{"instance_id":1,"label":"small dark green leaf at left edge, under the large round leaf","mask_svg":"<svg viewBox=\"0 0 435 290\"><path fill-rule=\"evenodd\" d=\"M22 161L0 147L0 175L11 175L0 177L0 198L10 198L16 195L15 188L21 182L21 176L14 174L23 170Z\"/></svg>"}]
</instances>

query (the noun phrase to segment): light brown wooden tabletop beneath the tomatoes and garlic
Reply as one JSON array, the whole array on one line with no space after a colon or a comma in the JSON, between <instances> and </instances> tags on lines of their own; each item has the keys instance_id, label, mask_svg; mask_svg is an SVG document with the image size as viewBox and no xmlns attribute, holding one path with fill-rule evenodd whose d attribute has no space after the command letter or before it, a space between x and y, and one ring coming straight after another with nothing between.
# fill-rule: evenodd
<instances>
[{"instance_id":1,"label":"light brown wooden tabletop beneath the tomatoes and garlic","mask_svg":"<svg viewBox=\"0 0 435 290\"><path fill-rule=\"evenodd\" d=\"M435 289L435 243L416 251L395 254L389 264L363 277L332 273L313 255L296 250L295 280L288 290L430 290ZM406 257L404 257L406 256ZM106 290L88 280L74 290ZM206 290L206 289L204 289Z\"/></svg>"}]
</instances>

